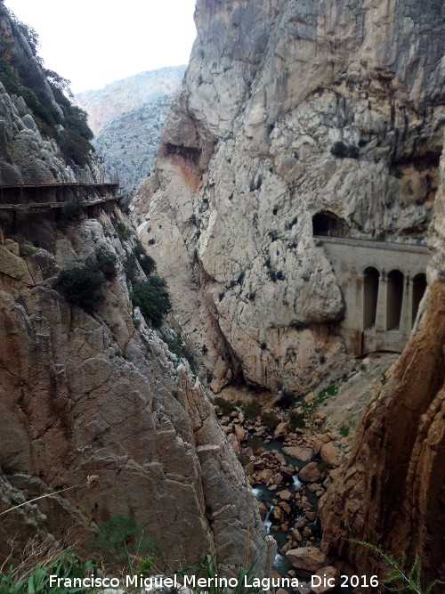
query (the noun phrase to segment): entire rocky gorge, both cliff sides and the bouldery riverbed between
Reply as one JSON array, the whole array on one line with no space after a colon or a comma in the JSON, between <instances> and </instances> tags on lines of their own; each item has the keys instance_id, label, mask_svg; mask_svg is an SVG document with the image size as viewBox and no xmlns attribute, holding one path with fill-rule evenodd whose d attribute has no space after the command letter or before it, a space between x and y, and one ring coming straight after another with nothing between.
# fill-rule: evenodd
<instances>
[{"instance_id":1,"label":"entire rocky gorge, both cliff sides and the bouldery riverbed between","mask_svg":"<svg viewBox=\"0 0 445 594\"><path fill-rule=\"evenodd\" d=\"M442 17L436 0L198 0L129 220L0 2L3 560L125 515L162 570L255 559L295 594L340 573L378 576L369 594L378 548L444 579ZM408 303L403 348L348 350L329 240L346 264L359 246L428 254L422 291L397 261L348 279L361 346L378 296L390 337L392 297Z\"/></svg>"}]
</instances>

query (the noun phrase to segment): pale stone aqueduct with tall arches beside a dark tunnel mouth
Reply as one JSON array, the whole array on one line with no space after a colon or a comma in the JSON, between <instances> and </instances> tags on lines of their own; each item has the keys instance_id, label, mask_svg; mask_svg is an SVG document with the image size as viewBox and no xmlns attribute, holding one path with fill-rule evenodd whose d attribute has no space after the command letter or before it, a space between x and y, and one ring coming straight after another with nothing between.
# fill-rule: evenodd
<instances>
[{"instance_id":1,"label":"pale stone aqueduct with tall arches beside a dark tunnel mouth","mask_svg":"<svg viewBox=\"0 0 445 594\"><path fill-rule=\"evenodd\" d=\"M330 216L330 215L329 215ZM340 333L348 352L400 353L416 321L426 289L426 246L337 237L335 216L316 219L320 240L342 289L345 304Z\"/></svg>"}]
</instances>

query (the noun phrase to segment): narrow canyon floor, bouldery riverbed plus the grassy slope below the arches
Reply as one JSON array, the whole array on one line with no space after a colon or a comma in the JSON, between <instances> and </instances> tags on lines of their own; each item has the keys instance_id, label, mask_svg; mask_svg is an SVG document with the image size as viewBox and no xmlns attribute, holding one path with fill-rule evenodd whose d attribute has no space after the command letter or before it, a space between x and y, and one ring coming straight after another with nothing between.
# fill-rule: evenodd
<instances>
[{"instance_id":1,"label":"narrow canyon floor, bouldery riverbed plus the grassy slope below the arches","mask_svg":"<svg viewBox=\"0 0 445 594\"><path fill-rule=\"evenodd\" d=\"M329 566L318 549L323 529L319 500L352 450L372 388L398 356L376 353L353 360L330 383L298 399L287 392L272 395L237 387L214 397L215 411L246 470L266 532L277 542L277 574L304 581L310 566L312 571ZM295 557L295 549L302 548L307 555Z\"/></svg>"}]
</instances>

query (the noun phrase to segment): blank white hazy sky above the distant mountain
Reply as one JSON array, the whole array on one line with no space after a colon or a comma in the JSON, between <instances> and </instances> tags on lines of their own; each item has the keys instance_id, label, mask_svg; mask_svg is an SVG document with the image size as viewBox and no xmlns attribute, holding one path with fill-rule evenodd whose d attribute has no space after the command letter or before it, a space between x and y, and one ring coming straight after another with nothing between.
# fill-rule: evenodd
<instances>
[{"instance_id":1,"label":"blank white hazy sky above the distant mountain","mask_svg":"<svg viewBox=\"0 0 445 594\"><path fill-rule=\"evenodd\" d=\"M45 66L74 93L143 70L186 64L195 0L5 0L36 29Z\"/></svg>"}]
</instances>

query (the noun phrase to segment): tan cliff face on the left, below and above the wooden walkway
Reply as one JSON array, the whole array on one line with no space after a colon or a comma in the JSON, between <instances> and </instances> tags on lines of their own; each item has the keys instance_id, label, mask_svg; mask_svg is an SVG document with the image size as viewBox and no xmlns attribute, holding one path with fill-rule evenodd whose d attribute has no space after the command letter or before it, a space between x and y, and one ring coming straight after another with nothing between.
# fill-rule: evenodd
<instances>
[{"instance_id":1,"label":"tan cliff face on the left, below and above the wooden walkway","mask_svg":"<svg viewBox=\"0 0 445 594\"><path fill-rule=\"evenodd\" d=\"M0 165L11 167L0 172L17 175L0 184L82 183L82 172L58 160L60 147L18 105L28 110L2 93ZM93 160L85 169L96 170ZM125 514L164 543L166 567L207 553L239 564L247 546L250 558L261 558L255 498L213 406L189 364L132 304L124 263L134 232L116 202L84 207L63 225L48 207L37 216L20 211L12 224L12 210L1 206L0 511L77 487L2 516L0 557L10 553L10 537L14 559L36 532L66 546ZM21 224L26 216L32 224ZM116 276L87 313L57 290L58 273L97 264L101 251L116 259ZM134 265L136 279L146 280ZM163 332L173 337L167 326ZM99 477L91 491L88 475Z\"/></svg>"}]
</instances>

